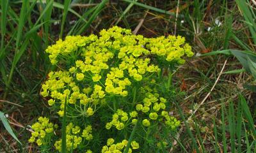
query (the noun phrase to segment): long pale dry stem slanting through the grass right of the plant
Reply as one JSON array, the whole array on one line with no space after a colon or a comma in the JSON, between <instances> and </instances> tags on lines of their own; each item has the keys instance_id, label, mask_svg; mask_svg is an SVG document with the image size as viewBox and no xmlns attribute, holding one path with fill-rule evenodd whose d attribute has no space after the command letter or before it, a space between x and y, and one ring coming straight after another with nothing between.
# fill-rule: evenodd
<instances>
[{"instance_id":1,"label":"long pale dry stem slanting through the grass right of the plant","mask_svg":"<svg viewBox=\"0 0 256 153\"><path fill-rule=\"evenodd\" d=\"M217 84L218 81L220 80L220 76L221 76L221 74L223 73L223 70L224 70L224 68L225 68L225 66L226 66L226 64L227 64L227 60L228 60L228 59L225 60L223 66L222 66L222 68L221 68L220 74L218 75L218 78L216 79L214 85L212 85L211 91L208 92L208 94L205 96L205 98L203 99L203 101L202 101L202 102L199 104L199 106L194 110L194 112L189 116L189 118L186 120L186 122L188 122L188 120L191 120L191 117L193 116L193 114L195 114L195 113L197 112L197 110L200 108L200 106L203 105L204 102L206 101L206 99L210 96L210 94L211 94L211 92L213 91L214 87L216 86L216 84ZM177 140L179 139L180 133L181 133L182 130L183 130L183 128L180 128L179 133L177 133L177 135L176 135L176 139L177 139ZM174 141L173 141L173 145L176 145L176 144L177 144L177 141L174 140ZM173 150L173 148L172 148L171 150Z\"/></svg>"}]
</instances>

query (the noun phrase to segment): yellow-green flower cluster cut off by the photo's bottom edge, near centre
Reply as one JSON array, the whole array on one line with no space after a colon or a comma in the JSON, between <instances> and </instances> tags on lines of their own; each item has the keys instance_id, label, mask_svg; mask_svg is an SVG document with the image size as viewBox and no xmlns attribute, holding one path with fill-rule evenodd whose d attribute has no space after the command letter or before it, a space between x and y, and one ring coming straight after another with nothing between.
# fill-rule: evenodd
<instances>
[{"instance_id":1,"label":"yellow-green flower cluster cut off by the photo's bottom edge, near centre","mask_svg":"<svg viewBox=\"0 0 256 153\"><path fill-rule=\"evenodd\" d=\"M104 145L102 147L101 152L102 153L111 153L111 152L122 153L122 150L124 150L125 147L127 147L127 143L128 143L127 140L123 140L122 142L119 142L119 143L116 143L116 144L114 144L114 142L115 142L115 140L113 138L109 138L108 141L107 141L107 145ZM135 149L139 149L140 145L139 145L138 142L132 141L131 142L131 147L132 147L132 149L135 150ZM132 149L129 148L128 152L131 153Z\"/></svg>"}]
</instances>

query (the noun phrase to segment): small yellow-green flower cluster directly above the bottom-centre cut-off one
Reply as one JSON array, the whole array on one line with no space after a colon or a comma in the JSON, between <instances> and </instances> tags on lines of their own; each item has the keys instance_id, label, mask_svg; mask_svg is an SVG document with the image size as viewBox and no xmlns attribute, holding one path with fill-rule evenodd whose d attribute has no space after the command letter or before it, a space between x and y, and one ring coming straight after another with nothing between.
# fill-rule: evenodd
<instances>
[{"instance_id":1,"label":"small yellow-green flower cluster directly above the bottom-centre cut-off one","mask_svg":"<svg viewBox=\"0 0 256 153\"><path fill-rule=\"evenodd\" d=\"M125 122L129 119L128 113L123 110L116 110L116 113L112 116L112 121L107 122L106 129L110 129L112 126L115 126L116 129L121 130L125 128Z\"/></svg>"}]
</instances>

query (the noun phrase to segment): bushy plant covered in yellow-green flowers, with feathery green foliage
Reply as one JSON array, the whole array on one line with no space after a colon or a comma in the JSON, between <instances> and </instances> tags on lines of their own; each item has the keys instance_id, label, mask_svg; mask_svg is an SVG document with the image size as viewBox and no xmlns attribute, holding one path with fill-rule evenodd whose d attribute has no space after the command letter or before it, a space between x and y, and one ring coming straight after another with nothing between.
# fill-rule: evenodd
<instances>
[{"instance_id":1,"label":"bushy plant covered in yellow-green flowers, with feathery green foliage","mask_svg":"<svg viewBox=\"0 0 256 153\"><path fill-rule=\"evenodd\" d=\"M68 152L148 152L168 145L180 121L169 113L175 88L164 69L172 74L182 57L193 55L184 38L144 38L112 27L100 36L67 36L46 52L56 70L41 94L58 119L67 118L59 127L66 128ZM61 152L57 124L40 117L32 129L29 142Z\"/></svg>"}]
</instances>

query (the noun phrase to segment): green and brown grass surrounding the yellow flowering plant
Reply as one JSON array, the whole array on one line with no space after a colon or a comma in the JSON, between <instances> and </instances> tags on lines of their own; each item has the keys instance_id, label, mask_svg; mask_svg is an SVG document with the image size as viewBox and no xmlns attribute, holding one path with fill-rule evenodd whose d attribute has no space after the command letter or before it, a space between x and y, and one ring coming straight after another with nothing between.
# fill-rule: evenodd
<instances>
[{"instance_id":1,"label":"green and brown grass surrounding the yellow flowering plant","mask_svg":"<svg viewBox=\"0 0 256 153\"><path fill-rule=\"evenodd\" d=\"M36 152L29 125L51 115L39 94L51 70L45 48L113 25L193 47L172 80L183 92L170 112L183 122L168 152L256 152L254 2L1 0L0 152Z\"/></svg>"}]
</instances>

